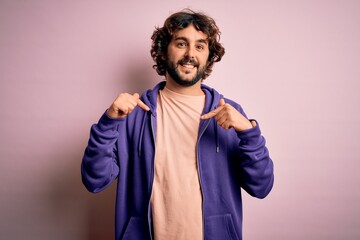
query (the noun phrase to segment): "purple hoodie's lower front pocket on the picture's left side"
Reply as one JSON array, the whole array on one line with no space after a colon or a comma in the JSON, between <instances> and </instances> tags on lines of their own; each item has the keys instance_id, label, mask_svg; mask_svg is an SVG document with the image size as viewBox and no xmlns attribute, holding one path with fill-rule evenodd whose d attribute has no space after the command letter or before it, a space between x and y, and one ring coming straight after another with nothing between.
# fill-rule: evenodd
<instances>
[{"instance_id":1,"label":"purple hoodie's lower front pocket on the picture's left side","mask_svg":"<svg viewBox=\"0 0 360 240\"><path fill-rule=\"evenodd\" d=\"M148 229L146 226L143 218L131 217L122 239L147 239Z\"/></svg>"}]
</instances>

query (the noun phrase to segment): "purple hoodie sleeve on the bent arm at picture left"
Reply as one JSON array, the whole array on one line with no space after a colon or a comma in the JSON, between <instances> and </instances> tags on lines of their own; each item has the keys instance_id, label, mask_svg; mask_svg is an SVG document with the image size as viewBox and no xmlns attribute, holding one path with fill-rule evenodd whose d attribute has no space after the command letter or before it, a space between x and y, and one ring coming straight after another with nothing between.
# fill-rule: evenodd
<instances>
[{"instance_id":1,"label":"purple hoodie sleeve on the bent arm at picture left","mask_svg":"<svg viewBox=\"0 0 360 240\"><path fill-rule=\"evenodd\" d=\"M106 113L90 130L90 138L81 163L82 181L90 192L100 192L109 186L119 173L116 142L119 124L124 119L112 119Z\"/></svg>"}]
</instances>

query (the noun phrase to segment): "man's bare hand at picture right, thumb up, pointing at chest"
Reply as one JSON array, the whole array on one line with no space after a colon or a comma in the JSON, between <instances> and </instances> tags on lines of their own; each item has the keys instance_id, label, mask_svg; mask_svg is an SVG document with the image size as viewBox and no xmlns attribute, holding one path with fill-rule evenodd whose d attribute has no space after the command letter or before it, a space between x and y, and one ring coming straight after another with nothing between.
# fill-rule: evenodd
<instances>
[{"instance_id":1,"label":"man's bare hand at picture right, thumb up, pointing at chest","mask_svg":"<svg viewBox=\"0 0 360 240\"><path fill-rule=\"evenodd\" d=\"M201 119L205 120L212 117L214 117L217 123L226 130L234 128L235 131L241 132L253 127L252 123L247 118L233 106L225 103L223 98L220 99L218 108L202 115Z\"/></svg>"}]
</instances>

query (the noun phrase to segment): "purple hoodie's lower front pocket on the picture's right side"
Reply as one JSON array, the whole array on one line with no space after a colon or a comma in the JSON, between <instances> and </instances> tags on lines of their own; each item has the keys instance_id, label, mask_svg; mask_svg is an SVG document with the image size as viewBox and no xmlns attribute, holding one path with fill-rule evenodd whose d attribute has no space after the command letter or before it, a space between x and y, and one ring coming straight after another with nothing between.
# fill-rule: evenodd
<instances>
[{"instance_id":1,"label":"purple hoodie's lower front pocket on the picture's right side","mask_svg":"<svg viewBox=\"0 0 360 240\"><path fill-rule=\"evenodd\" d=\"M239 240L231 214L207 217L205 235L207 240Z\"/></svg>"}]
</instances>

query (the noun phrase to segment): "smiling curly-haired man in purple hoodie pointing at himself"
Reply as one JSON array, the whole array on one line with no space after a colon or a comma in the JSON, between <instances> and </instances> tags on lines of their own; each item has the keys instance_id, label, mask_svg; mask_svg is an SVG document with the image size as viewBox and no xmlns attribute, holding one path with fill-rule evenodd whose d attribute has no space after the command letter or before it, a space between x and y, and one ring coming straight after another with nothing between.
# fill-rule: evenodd
<instances>
[{"instance_id":1,"label":"smiling curly-haired man in purple hoodie pointing at himself","mask_svg":"<svg viewBox=\"0 0 360 240\"><path fill-rule=\"evenodd\" d=\"M165 81L120 94L92 126L82 179L91 192L117 179L116 239L242 239L240 189L270 192L258 123L202 84L224 55L219 37L202 13L171 15L152 36Z\"/></svg>"}]
</instances>

